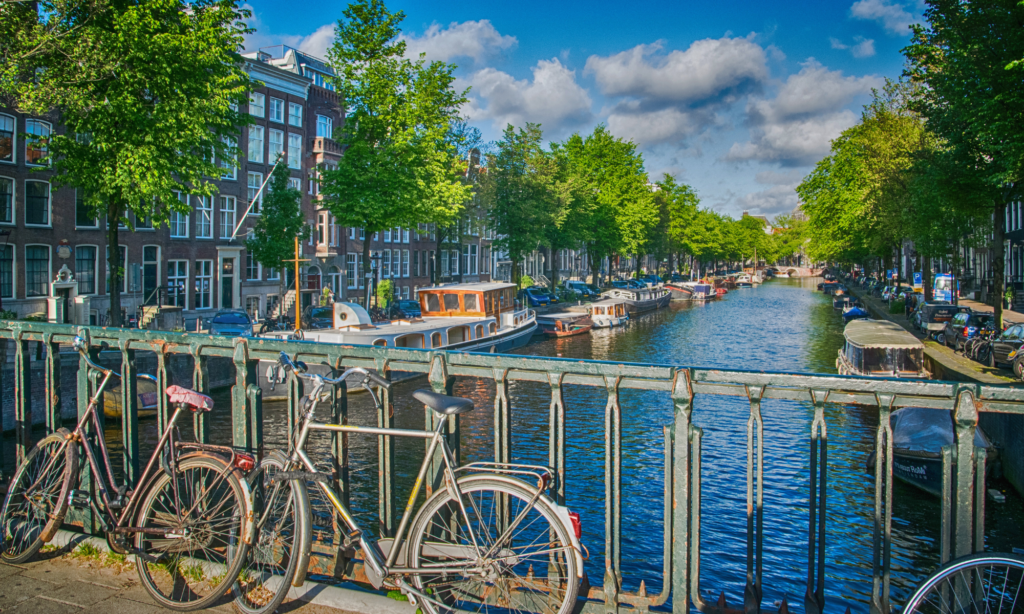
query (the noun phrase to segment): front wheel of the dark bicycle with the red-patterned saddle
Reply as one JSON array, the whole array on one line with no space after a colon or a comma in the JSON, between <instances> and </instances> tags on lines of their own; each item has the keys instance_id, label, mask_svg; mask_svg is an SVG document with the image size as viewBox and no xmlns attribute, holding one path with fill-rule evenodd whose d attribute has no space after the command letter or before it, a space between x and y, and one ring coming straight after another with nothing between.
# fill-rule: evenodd
<instances>
[{"instance_id":1,"label":"front wheel of the dark bicycle with the red-patterned saddle","mask_svg":"<svg viewBox=\"0 0 1024 614\"><path fill-rule=\"evenodd\" d=\"M34 557L63 523L78 479L78 445L69 442L70 436L67 429L58 429L43 438L10 481L0 511L0 559L5 563Z\"/></svg>"}]
</instances>

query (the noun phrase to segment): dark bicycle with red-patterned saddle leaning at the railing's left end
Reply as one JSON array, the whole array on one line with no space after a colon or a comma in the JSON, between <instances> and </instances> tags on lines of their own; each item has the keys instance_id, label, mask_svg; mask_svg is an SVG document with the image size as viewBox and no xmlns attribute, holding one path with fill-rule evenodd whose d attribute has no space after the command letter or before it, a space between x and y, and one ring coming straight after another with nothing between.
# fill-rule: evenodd
<instances>
[{"instance_id":1,"label":"dark bicycle with red-patterned saddle leaning at the railing's left end","mask_svg":"<svg viewBox=\"0 0 1024 614\"><path fill-rule=\"evenodd\" d=\"M171 386L166 393L177 408L137 481L139 487L119 486L98 412L108 383L120 376L96 364L81 337L73 345L84 368L101 374L102 380L75 429L61 428L43 438L11 480L0 510L0 558L28 561L53 538L71 507L91 510L112 550L135 555L139 579L157 603L178 611L211 605L230 587L252 538L243 472L253 468L254 459L230 447L180 441L179 416L209 411L213 401ZM94 494L78 489L80 448Z\"/></svg>"}]
</instances>

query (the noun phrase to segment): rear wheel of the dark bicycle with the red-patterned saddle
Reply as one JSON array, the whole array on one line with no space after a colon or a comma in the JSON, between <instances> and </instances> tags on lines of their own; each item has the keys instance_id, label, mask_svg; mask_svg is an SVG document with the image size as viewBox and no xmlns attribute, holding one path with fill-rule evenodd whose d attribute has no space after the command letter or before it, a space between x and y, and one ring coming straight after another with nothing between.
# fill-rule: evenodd
<instances>
[{"instance_id":1,"label":"rear wheel of the dark bicycle with the red-patterned saddle","mask_svg":"<svg viewBox=\"0 0 1024 614\"><path fill-rule=\"evenodd\" d=\"M226 470L226 473L225 473ZM224 596L247 554L242 519L249 513L237 472L216 456L178 459L162 473L138 513L135 567L158 604L199 610Z\"/></svg>"}]
</instances>

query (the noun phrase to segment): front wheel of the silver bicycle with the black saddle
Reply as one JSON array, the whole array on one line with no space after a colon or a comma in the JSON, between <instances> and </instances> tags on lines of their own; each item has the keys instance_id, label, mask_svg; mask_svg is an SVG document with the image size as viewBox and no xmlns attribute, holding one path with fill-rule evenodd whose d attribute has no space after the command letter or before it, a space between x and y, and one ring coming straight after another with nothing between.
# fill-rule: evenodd
<instances>
[{"instance_id":1,"label":"front wheel of the silver bicycle with the black saddle","mask_svg":"<svg viewBox=\"0 0 1024 614\"><path fill-rule=\"evenodd\" d=\"M303 480L274 482L288 458L271 452L248 478L253 493L256 534L231 586L234 609L243 614L276 610L292 585L303 553L309 552L312 521Z\"/></svg>"}]
</instances>

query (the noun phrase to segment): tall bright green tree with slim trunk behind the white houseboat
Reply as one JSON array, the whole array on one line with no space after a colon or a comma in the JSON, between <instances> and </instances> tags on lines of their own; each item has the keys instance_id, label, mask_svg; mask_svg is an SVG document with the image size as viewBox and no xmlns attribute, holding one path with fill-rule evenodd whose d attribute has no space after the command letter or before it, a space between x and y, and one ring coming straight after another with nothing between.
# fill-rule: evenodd
<instances>
[{"instance_id":1,"label":"tall bright green tree with slim trunk behind the white houseboat","mask_svg":"<svg viewBox=\"0 0 1024 614\"><path fill-rule=\"evenodd\" d=\"M466 97L454 89L454 64L404 57L403 12L388 11L381 0L357 0L343 15L328 60L346 105L345 124L334 134L344 154L336 169L321 170L321 193L339 224L366 231L369 271L374 233L425 222L444 226L469 200L451 139Z\"/></svg>"}]
</instances>

